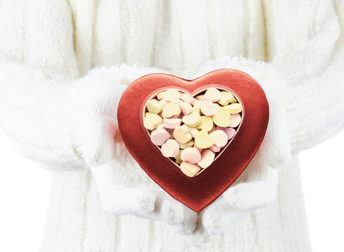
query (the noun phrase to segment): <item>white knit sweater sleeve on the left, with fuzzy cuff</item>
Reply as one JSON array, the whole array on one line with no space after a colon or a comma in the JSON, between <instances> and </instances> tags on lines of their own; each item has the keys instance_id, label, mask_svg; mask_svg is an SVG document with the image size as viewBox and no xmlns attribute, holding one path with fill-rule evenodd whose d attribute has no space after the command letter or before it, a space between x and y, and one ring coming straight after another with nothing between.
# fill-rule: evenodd
<instances>
[{"instance_id":1,"label":"white knit sweater sleeve on the left, with fuzzy cuff","mask_svg":"<svg viewBox=\"0 0 344 252\"><path fill-rule=\"evenodd\" d=\"M81 113L109 85L118 102L127 85L148 70L121 64L79 77L67 1L27 3L0 5L0 127L41 166L84 169Z\"/></svg>"}]
</instances>

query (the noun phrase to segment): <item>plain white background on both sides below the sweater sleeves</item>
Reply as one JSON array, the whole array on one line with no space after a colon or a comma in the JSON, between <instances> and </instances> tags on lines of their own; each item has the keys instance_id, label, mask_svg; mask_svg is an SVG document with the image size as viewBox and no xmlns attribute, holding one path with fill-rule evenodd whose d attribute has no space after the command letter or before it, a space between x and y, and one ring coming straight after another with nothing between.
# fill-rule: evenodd
<instances>
[{"instance_id":1,"label":"plain white background on both sides below the sweater sleeves","mask_svg":"<svg viewBox=\"0 0 344 252\"><path fill-rule=\"evenodd\" d=\"M22 158L1 131L0 153L0 251L39 251L48 172ZM344 131L300 160L313 251L343 252Z\"/></svg>"}]
</instances>

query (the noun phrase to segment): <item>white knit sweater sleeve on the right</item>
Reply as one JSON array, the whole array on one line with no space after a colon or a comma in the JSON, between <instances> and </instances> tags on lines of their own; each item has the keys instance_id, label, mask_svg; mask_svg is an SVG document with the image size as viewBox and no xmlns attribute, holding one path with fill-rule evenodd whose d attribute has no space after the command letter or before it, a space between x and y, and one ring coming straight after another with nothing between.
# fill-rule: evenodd
<instances>
[{"instance_id":1,"label":"white knit sweater sleeve on the right","mask_svg":"<svg viewBox=\"0 0 344 252\"><path fill-rule=\"evenodd\" d=\"M269 61L287 78L292 151L344 126L344 3L275 1L266 6Z\"/></svg>"}]
</instances>

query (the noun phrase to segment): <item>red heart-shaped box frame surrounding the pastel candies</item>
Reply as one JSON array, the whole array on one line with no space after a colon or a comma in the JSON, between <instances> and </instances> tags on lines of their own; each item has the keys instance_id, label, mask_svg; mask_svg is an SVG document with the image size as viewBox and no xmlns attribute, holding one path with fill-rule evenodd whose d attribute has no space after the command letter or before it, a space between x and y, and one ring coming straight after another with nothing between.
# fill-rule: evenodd
<instances>
[{"instance_id":1,"label":"red heart-shaped box frame surrounding the pastel candies","mask_svg":"<svg viewBox=\"0 0 344 252\"><path fill-rule=\"evenodd\" d=\"M143 109L150 97L167 88L191 95L207 87L223 87L240 99L245 116L235 139L212 165L193 178L165 158L143 126ZM130 154L168 194L194 211L213 202L244 171L261 145L268 127L269 107L261 86L242 71L218 69L194 80L151 73L135 80L118 104L118 127Z\"/></svg>"}]
</instances>

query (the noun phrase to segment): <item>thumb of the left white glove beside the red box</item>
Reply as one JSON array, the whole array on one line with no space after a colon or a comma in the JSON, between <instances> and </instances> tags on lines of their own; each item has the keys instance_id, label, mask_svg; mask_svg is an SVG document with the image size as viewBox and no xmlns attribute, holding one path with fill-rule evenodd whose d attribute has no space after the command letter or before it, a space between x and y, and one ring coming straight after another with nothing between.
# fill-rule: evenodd
<instances>
[{"instance_id":1,"label":"thumb of the left white glove beside the red box","mask_svg":"<svg viewBox=\"0 0 344 252\"><path fill-rule=\"evenodd\" d=\"M90 167L103 165L113 157L113 137L118 129L117 107L124 90L123 85L104 87L77 113L77 148Z\"/></svg>"}]
</instances>

